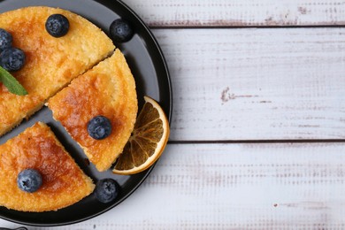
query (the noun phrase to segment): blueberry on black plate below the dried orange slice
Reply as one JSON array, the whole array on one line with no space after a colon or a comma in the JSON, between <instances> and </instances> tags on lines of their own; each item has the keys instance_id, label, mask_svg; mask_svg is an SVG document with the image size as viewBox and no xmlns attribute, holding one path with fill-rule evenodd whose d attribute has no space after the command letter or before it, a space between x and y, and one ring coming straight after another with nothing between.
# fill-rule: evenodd
<instances>
[{"instance_id":1,"label":"blueberry on black plate below the dried orange slice","mask_svg":"<svg viewBox=\"0 0 345 230\"><path fill-rule=\"evenodd\" d=\"M110 203L119 194L119 185L110 178L98 180L96 183L96 198L102 203Z\"/></svg>"}]
</instances>

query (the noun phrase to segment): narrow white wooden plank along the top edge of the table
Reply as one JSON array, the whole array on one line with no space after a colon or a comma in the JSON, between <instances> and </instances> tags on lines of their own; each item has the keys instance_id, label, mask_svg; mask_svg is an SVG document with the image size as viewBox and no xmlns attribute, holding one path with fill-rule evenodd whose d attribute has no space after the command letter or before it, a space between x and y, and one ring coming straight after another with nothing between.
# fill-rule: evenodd
<instances>
[{"instance_id":1,"label":"narrow white wooden plank along the top edge of the table","mask_svg":"<svg viewBox=\"0 0 345 230\"><path fill-rule=\"evenodd\" d=\"M343 0L124 0L150 27L345 25Z\"/></svg>"}]
</instances>

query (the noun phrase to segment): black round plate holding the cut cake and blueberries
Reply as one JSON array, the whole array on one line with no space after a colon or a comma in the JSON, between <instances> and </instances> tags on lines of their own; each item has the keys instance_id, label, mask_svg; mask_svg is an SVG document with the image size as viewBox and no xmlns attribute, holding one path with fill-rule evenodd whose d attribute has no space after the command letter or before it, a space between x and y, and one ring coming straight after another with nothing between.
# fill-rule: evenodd
<instances>
[{"instance_id":1,"label":"black round plate holding the cut cake and blueberries","mask_svg":"<svg viewBox=\"0 0 345 230\"><path fill-rule=\"evenodd\" d=\"M150 96L158 101L165 110L169 120L172 112L172 89L165 58L157 44L154 36L149 32L140 19L126 4L114 0L3 0L0 1L0 12L7 12L25 6L46 5L59 7L71 12L80 14L86 19L96 24L109 35L109 27L114 19L126 19L134 27L134 37L122 44L115 45L125 54L130 66L137 88L139 110L142 108L143 96ZM36 121L47 123L58 140L63 143L65 149L70 152L81 169L94 181L103 178L113 178L119 182L121 191L118 198L113 203L100 203L92 194L79 203L58 210L47 212L22 212L12 211L4 207L0 208L0 218L7 219L25 225L32 226L60 226L73 224L108 211L130 196L135 188L138 188L142 181L149 175L152 167L147 171L131 176L120 176L111 173L111 170L99 173L94 165L89 165L86 156L80 147L73 142L66 134L64 127L51 118L51 111L44 107L29 120L21 123L9 134L0 138L0 144L24 131L28 126L32 126ZM0 179L1 180L1 179Z\"/></svg>"}]
</instances>

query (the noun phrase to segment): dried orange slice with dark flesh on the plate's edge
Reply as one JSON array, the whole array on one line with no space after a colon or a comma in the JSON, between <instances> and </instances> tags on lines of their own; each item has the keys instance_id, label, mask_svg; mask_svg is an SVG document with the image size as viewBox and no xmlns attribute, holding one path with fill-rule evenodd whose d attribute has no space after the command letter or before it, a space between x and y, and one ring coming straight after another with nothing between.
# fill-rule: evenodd
<instances>
[{"instance_id":1,"label":"dried orange slice with dark flesh on the plate's edge","mask_svg":"<svg viewBox=\"0 0 345 230\"><path fill-rule=\"evenodd\" d=\"M122 175L140 173L153 165L168 142L169 121L160 105L144 96L145 104L136 119L134 131L112 172Z\"/></svg>"}]
</instances>

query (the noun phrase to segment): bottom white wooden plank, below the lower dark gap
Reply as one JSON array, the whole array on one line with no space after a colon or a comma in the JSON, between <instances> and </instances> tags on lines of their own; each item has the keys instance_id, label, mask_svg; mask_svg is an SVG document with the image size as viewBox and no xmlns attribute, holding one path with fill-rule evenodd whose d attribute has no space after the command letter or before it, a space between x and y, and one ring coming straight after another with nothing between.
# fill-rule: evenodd
<instances>
[{"instance_id":1,"label":"bottom white wooden plank, below the lower dark gap","mask_svg":"<svg viewBox=\"0 0 345 230\"><path fill-rule=\"evenodd\" d=\"M169 145L125 202L57 229L342 229L344 149L345 143Z\"/></svg>"}]
</instances>

